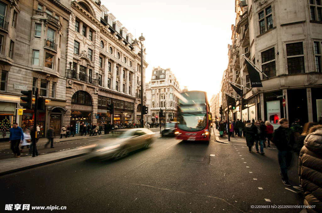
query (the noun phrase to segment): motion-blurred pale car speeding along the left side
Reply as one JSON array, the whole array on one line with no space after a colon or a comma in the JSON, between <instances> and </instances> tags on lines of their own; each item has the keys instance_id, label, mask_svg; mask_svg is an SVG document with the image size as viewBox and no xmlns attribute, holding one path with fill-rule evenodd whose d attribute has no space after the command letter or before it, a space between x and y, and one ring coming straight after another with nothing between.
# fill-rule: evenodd
<instances>
[{"instance_id":1,"label":"motion-blurred pale car speeding along the left side","mask_svg":"<svg viewBox=\"0 0 322 213\"><path fill-rule=\"evenodd\" d=\"M123 158L134 150L147 149L156 137L154 132L144 128L118 130L115 134L116 138L109 138L92 148L90 158Z\"/></svg>"}]
</instances>

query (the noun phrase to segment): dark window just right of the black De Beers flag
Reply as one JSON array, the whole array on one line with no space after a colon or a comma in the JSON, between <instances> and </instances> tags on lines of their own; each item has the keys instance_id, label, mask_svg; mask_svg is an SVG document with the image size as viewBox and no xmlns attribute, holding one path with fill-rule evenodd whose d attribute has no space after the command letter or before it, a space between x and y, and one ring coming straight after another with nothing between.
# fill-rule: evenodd
<instances>
[{"instance_id":1,"label":"dark window just right of the black De Beers flag","mask_svg":"<svg viewBox=\"0 0 322 213\"><path fill-rule=\"evenodd\" d=\"M274 47L261 53L262 70L270 78L276 76Z\"/></svg>"}]
</instances>

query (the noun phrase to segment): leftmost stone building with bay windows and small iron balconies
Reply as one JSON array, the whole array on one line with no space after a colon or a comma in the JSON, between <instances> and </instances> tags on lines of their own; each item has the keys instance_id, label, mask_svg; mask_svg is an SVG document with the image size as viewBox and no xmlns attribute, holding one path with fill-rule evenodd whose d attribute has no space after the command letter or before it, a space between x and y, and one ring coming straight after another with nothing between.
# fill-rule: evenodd
<instances>
[{"instance_id":1,"label":"leftmost stone building with bay windows and small iron balconies","mask_svg":"<svg viewBox=\"0 0 322 213\"><path fill-rule=\"evenodd\" d=\"M46 99L46 109L38 115L40 137L52 118L60 125L66 113L62 64L66 64L68 7L69 1L63 0L0 0L0 120L6 117L7 123L17 122L23 129L33 125L33 110L18 115L16 108L20 108L21 90L38 88ZM5 131L0 130L3 135ZM8 137L7 131L4 140Z\"/></svg>"}]
</instances>

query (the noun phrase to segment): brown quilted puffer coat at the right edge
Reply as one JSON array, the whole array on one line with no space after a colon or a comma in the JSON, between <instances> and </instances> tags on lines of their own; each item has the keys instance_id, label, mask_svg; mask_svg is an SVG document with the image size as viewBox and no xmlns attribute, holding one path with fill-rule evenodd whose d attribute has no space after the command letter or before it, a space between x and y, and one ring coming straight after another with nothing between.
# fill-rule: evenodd
<instances>
[{"instance_id":1,"label":"brown quilted puffer coat at the right edge","mask_svg":"<svg viewBox=\"0 0 322 213\"><path fill-rule=\"evenodd\" d=\"M298 160L299 181L304 191L304 205L315 206L307 212L322 212L322 125L311 127Z\"/></svg>"}]
</instances>

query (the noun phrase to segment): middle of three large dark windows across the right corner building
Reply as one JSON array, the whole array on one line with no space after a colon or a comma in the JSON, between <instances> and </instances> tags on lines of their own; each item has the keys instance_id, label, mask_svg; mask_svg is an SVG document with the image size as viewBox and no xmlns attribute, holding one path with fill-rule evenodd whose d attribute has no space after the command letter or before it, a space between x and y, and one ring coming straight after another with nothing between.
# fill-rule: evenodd
<instances>
[{"instance_id":1,"label":"middle of three large dark windows across the right corner building","mask_svg":"<svg viewBox=\"0 0 322 213\"><path fill-rule=\"evenodd\" d=\"M305 72L302 42L286 44L286 55L289 74Z\"/></svg>"}]
</instances>

